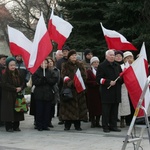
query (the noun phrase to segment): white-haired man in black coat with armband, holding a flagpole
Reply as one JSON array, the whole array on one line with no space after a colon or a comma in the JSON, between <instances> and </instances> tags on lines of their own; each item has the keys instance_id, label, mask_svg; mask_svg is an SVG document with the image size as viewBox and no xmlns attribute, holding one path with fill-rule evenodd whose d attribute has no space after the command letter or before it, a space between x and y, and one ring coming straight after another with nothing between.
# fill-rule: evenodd
<instances>
[{"instance_id":1,"label":"white-haired man in black coat with armband, holding a flagpole","mask_svg":"<svg viewBox=\"0 0 150 150\"><path fill-rule=\"evenodd\" d=\"M121 130L117 128L118 105L121 102L121 67L114 62L114 50L107 50L105 60L98 66L96 80L100 84L102 101L102 126L104 132ZM110 88L108 88L110 86Z\"/></svg>"}]
</instances>

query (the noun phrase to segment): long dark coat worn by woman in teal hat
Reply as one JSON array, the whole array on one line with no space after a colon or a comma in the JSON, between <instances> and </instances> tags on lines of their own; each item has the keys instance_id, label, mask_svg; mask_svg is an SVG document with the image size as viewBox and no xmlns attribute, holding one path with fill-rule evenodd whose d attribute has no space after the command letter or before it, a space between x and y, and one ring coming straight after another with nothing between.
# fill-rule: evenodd
<instances>
[{"instance_id":1,"label":"long dark coat worn by woman in teal hat","mask_svg":"<svg viewBox=\"0 0 150 150\"><path fill-rule=\"evenodd\" d=\"M16 87L22 87L22 90L24 87L24 81L17 69L14 72L6 69L6 72L2 75L1 87L1 120L7 122L24 120L24 113L15 111Z\"/></svg>"}]
</instances>

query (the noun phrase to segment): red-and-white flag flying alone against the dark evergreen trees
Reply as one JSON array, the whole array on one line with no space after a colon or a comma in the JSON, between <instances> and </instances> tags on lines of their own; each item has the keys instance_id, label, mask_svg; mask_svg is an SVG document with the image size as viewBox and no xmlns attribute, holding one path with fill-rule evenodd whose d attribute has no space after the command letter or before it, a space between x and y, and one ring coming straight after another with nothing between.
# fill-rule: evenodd
<instances>
[{"instance_id":1,"label":"red-and-white flag flying alone against the dark evergreen trees","mask_svg":"<svg viewBox=\"0 0 150 150\"><path fill-rule=\"evenodd\" d=\"M108 30L103 27L102 23L100 24L109 49L137 50L123 35L114 30Z\"/></svg>"}]
</instances>

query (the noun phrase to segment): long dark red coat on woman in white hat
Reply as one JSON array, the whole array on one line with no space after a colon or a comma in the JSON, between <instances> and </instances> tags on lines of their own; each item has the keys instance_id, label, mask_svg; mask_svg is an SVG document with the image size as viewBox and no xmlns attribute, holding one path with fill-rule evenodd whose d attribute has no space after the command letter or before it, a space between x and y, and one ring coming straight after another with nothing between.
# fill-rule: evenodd
<instances>
[{"instance_id":1,"label":"long dark red coat on woman in white hat","mask_svg":"<svg viewBox=\"0 0 150 150\"><path fill-rule=\"evenodd\" d=\"M92 69L87 70L86 87L89 113L93 116L99 116L102 114L99 84L96 82L96 76Z\"/></svg>"}]
</instances>

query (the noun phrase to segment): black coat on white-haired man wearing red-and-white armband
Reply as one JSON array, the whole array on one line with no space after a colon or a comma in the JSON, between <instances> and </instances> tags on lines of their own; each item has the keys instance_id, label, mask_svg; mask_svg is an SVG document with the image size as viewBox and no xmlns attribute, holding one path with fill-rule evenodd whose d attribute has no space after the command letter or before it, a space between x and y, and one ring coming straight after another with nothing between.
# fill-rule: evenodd
<instances>
[{"instance_id":1,"label":"black coat on white-haired man wearing red-and-white armband","mask_svg":"<svg viewBox=\"0 0 150 150\"><path fill-rule=\"evenodd\" d=\"M110 63L104 60L97 69L96 80L100 83L104 79L104 84L100 84L100 94L102 103L120 103L121 102L121 78L116 82L115 86L110 86L110 81L114 81L122 72L119 64Z\"/></svg>"}]
</instances>

